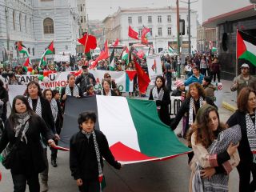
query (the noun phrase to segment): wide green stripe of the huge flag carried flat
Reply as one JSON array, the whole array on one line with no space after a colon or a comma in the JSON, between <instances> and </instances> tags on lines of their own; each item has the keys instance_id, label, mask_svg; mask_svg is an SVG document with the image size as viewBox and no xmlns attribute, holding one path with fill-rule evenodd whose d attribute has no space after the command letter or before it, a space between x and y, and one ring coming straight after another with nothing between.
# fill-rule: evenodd
<instances>
[{"instance_id":1,"label":"wide green stripe of the huge flag carried flat","mask_svg":"<svg viewBox=\"0 0 256 192\"><path fill-rule=\"evenodd\" d=\"M151 157L166 157L191 150L178 141L169 126L161 122L153 101L127 98L127 102L137 130L138 144L142 154Z\"/></svg>"}]
</instances>

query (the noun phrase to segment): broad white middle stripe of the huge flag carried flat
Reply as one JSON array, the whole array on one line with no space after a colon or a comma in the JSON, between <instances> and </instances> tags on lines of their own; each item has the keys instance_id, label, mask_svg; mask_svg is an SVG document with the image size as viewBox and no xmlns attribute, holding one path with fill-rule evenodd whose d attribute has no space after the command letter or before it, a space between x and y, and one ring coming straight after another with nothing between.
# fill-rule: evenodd
<instances>
[{"instance_id":1,"label":"broad white middle stripe of the huge flag carried flat","mask_svg":"<svg viewBox=\"0 0 256 192\"><path fill-rule=\"evenodd\" d=\"M138 150L138 135L130 114L128 102L123 97L97 95L98 123L109 145L116 142Z\"/></svg>"}]
</instances>

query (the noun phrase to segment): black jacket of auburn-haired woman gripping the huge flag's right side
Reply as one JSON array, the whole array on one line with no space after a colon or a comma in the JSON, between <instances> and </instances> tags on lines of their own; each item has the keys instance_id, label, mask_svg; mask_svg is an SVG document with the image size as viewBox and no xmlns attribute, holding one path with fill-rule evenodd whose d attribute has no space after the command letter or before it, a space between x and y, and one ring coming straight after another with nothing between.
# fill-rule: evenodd
<instances>
[{"instance_id":1,"label":"black jacket of auburn-haired woman gripping the huge flag's right side","mask_svg":"<svg viewBox=\"0 0 256 192\"><path fill-rule=\"evenodd\" d=\"M208 104L210 104L211 106L215 106L214 102L212 99L206 97L206 98L203 98L204 100L206 100L206 102ZM199 99L198 99L198 102L199 102ZM198 103L199 104L199 103ZM215 106L217 109L218 107ZM198 109L200 108L200 106L198 106L196 103L195 103L195 108L196 108L196 112L198 111ZM178 110L178 114L176 114L175 118L172 119L171 123L170 123L170 128L172 130L175 130L178 126L178 123L181 121L181 119L183 118L184 114L186 114L186 129L189 128L189 117L190 117L190 98L186 98L184 100L184 102L182 102L182 106L179 108ZM194 114L194 110L193 110L193 121L195 119L195 116L196 114Z\"/></svg>"}]
</instances>

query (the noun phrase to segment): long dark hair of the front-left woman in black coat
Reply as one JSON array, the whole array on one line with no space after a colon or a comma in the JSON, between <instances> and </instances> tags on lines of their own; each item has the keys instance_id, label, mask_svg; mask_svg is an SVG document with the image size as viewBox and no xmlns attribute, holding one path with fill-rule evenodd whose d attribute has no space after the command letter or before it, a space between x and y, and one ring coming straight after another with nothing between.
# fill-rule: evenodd
<instances>
[{"instance_id":1,"label":"long dark hair of the front-left woman in black coat","mask_svg":"<svg viewBox=\"0 0 256 192\"><path fill-rule=\"evenodd\" d=\"M12 123L13 125L15 125L15 119L17 118L17 110L15 108L15 103L17 101L17 99L21 100L22 102L24 102L24 104L26 105L26 111L32 116L34 115L34 110L31 109L29 102L27 101L26 97L23 95L17 95L14 100L13 100L13 105L10 111L10 123Z\"/></svg>"}]
</instances>

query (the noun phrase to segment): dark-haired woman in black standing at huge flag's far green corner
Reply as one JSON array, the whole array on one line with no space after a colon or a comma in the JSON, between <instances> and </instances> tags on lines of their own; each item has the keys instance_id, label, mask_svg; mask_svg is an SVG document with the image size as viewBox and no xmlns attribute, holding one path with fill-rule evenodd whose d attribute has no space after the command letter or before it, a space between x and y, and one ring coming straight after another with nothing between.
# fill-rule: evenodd
<instances>
[{"instance_id":1,"label":"dark-haired woman in black standing at huge flag's far green corner","mask_svg":"<svg viewBox=\"0 0 256 192\"><path fill-rule=\"evenodd\" d=\"M149 100L154 100L157 105L158 115L162 122L170 125L170 114L168 106L170 105L170 93L166 90L166 82L162 76L155 78L155 86L150 90Z\"/></svg>"}]
</instances>

